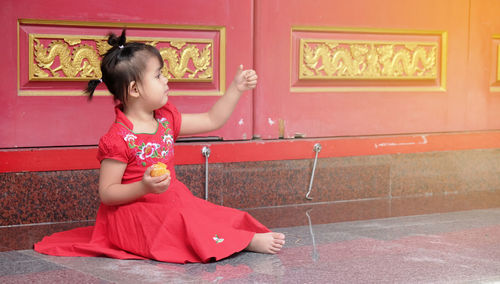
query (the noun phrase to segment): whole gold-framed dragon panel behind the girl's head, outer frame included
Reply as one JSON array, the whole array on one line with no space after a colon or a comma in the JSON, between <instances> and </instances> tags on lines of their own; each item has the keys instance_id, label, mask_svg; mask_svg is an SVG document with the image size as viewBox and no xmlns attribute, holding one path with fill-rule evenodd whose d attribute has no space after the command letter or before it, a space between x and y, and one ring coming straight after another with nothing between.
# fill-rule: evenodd
<instances>
[{"instance_id":1,"label":"whole gold-framed dragon panel behind the girl's head, outer frame included","mask_svg":"<svg viewBox=\"0 0 500 284\"><path fill-rule=\"evenodd\" d=\"M85 96L111 48L107 34L127 29L128 42L156 47L171 96L221 96L226 90L226 28L124 22L19 19L19 96ZM110 95L104 84L95 96Z\"/></svg>"}]
</instances>

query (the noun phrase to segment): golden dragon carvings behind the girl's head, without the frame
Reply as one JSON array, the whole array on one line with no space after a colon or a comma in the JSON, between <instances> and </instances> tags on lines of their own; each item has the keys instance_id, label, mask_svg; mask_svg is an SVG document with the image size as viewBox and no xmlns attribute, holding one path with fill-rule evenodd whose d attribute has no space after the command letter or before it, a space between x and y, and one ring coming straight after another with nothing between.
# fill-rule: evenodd
<instances>
[{"instance_id":1,"label":"golden dragon carvings behind the girl's head, without the frame","mask_svg":"<svg viewBox=\"0 0 500 284\"><path fill-rule=\"evenodd\" d=\"M80 44L81 41L78 39L53 40L47 47L40 43L37 38L34 38L33 41L32 52L36 64L32 63L32 77L37 79L79 80L100 78L102 76L100 58L111 48L106 40L97 39L94 40L96 43L95 48L90 45ZM156 46L158 42L150 41L146 42L146 44ZM71 49L71 46L73 49ZM162 70L163 74L173 80L212 79L212 46L212 43L205 44L205 47L200 51L195 44L171 41L169 47L159 49L162 58L166 62ZM59 62L57 62L57 58L59 58ZM189 75L184 78L186 73L189 73Z\"/></svg>"}]
</instances>

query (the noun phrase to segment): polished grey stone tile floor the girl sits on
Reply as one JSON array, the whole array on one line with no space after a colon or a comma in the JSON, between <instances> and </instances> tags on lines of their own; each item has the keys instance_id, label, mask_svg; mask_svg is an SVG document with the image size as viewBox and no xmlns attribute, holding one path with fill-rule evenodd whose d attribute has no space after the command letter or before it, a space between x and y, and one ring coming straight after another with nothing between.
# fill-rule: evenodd
<instances>
[{"instance_id":1,"label":"polished grey stone tile floor the girl sits on","mask_svg":"<svg viewBox=\"0 0 500 284\"><path fill-rule=\"evenodd\" d=\"M0 252L0 283L500 283L500 208L280 228L277 255L169 264Z\"/></svg>"}]
</instances>

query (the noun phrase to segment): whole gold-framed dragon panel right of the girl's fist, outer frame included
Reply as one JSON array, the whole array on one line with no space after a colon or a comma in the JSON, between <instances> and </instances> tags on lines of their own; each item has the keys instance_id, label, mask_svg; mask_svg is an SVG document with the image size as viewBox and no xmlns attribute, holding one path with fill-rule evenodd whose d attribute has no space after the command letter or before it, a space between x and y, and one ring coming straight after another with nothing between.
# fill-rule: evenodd
<instances>
[{"instance_id":1,"label":"whole gold-framed dragon panel right of the girl's fist, outer frame included","mask_svg":"<svg viewBox=\"0 0 500 284\"><path fill-rule=\"evenodd\" d=\"M446 91L445 31L294 26L290 92Z\"/></svg>"}]
</instances>

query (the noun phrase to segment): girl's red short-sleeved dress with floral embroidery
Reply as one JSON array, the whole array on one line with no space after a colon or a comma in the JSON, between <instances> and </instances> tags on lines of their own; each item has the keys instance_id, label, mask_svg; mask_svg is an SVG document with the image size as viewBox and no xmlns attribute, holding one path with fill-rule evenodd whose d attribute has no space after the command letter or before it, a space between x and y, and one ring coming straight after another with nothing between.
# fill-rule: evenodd
<instances>
[{"instance_id":1,"label":"girl's red short-sleeved dress with floral embroidery","mask_svg":"<svg viewBox=\"0 0 500 284\"><path fill-rule=\"evenodd\" d=\"M147 167L167 164L170 187L133 203L101 203L94 226L44 237L35 251L58 256L107 256L186 263L220 260L245 249L255 233L269 230L248 213L195 197L177 180L173 143L181 116L167 103L155 111L158 130L134 133L132 123L116 108L116 122L99 141L97 158L127 163L122 183L142 179Z\"/></svg>"}]
</instances>

